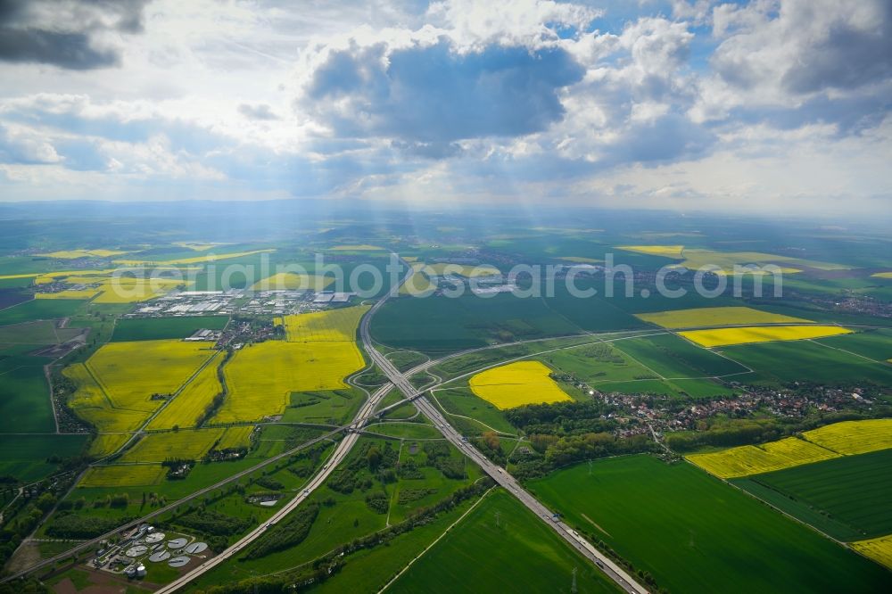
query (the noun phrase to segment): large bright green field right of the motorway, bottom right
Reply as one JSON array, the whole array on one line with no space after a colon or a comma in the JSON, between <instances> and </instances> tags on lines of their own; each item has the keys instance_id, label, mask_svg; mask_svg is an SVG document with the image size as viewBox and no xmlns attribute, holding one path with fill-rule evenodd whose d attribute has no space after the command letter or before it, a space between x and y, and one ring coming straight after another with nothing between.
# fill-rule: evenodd
<instances>
[{"instance_id":1,"label":"large bright green field right of the motorway, bottom right","mask_svg":"<svg viewBox=\"0 0 892 594\"><path fill-rule=\"evenodd\" d=\"M609 458L529 487L672 592L880 591L888 584L880 565L689 464Z\"/></svg>"}]
</instances>

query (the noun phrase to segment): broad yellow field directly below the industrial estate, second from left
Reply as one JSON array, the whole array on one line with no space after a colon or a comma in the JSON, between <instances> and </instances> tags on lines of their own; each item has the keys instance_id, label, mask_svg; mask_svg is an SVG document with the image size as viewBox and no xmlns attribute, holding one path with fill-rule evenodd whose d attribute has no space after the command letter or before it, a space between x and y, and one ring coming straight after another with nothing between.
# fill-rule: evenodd
<instances>
[{"instance_id":1,"label":"broad yellow field directly below the industrial estate, second from left","mask_svg":"<svg viewBox=\"0 0 892 594\"><path fill-rule=\"evenodd\" d=\"M201 342L109 342L87 359L87 368L115 408L152 412L216 351Z\"/></svg>"}]
</instances>

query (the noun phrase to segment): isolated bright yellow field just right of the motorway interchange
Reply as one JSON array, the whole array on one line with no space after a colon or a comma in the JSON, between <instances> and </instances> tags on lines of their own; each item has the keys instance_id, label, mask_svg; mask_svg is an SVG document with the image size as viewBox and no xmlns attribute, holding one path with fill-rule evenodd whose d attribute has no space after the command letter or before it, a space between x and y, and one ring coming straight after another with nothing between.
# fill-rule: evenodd
<instances>
[{"instance_id":1,"label":"isolated bright yellow field just right of the motorway interchange","mask_svg":"<svg viewBox=\"0 0 892 594\"><path fill-rule=\"evenodd\" d=\"M474 375L471 391L496 408L570 400L550 373L551 369L539 361L517 361Z\"/></svg>"}]
</instances>

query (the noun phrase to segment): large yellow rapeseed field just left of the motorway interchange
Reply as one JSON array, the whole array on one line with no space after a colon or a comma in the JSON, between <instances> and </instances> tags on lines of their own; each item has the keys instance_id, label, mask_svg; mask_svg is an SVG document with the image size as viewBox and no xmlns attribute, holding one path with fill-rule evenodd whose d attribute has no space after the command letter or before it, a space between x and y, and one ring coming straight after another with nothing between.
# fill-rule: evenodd
<instances>
[{"instance_id":1,"label":"large yellow rapeseed field just left of the motorway interchange","mask_svg":"<svg viewBox=\"0 0 892 594\"><path fill-rule=\"evenodd\" d=\"M228 394L215 421L256 421L285 412L291 392L337 390L365 367L355 342L267 341L245 346L223 367Z\"/></svg>"}]
</instances>

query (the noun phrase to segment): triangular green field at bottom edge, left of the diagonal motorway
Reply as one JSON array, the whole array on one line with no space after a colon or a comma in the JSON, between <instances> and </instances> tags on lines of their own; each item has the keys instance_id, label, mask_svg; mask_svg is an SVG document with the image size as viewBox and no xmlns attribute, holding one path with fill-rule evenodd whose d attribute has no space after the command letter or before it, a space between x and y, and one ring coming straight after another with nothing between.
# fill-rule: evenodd
<instances>
[{"instance_id":1,"label":"triangular green field at bottom edge, left of the diagonal motorway","mask_svg":"<svg viewBox=\"0 0 892 594\"><path fill-rule=\"evenodd\" d=\"M494 491L386 591L615 592L612 582L505 491Z\"/></svg>"}]
</instances>

